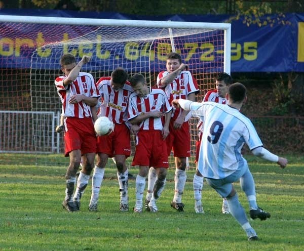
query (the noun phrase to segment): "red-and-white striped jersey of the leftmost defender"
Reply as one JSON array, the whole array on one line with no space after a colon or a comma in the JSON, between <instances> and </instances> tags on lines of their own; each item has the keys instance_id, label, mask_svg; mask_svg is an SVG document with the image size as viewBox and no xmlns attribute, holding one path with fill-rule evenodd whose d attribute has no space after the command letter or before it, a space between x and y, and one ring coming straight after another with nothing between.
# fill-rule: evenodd
<instances>
[{"instance_id":1,"label":"red-and-white striped jersey of the leftmost defender","mask_svg":"<svg viewBox=\"0 0 304 251\"><path fill-rule=\"evenodd\" d=\"M91 106L85 102L69 104L69 99L75 94L83 94L87 97L99 97L95 87L94 78L90 73L80 72L78 77L67 87L63 86L63 79L66 76L59 76L55 79L57 93L62 102L63 113L65 117L92 117Z\"/></svg>"}]
</instances>

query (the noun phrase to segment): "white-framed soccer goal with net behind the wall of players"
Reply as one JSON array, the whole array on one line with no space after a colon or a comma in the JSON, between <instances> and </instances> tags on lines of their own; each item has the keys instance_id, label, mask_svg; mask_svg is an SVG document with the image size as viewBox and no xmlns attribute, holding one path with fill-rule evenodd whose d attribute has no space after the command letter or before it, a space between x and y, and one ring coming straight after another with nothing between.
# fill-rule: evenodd
<instances>
[{"instance_id":1,"label":"white-framed soccer goal with net behind the wall of players","mask_svg":"<svg viewBox=\"0 0 304 251\"><path fill-rule=\"evenodd\" d=\"M56 125L61 111L54 80L62 74L59 59L64 53L72 53L77 60L91 56L82 71L90 72L96 81L123 67L129 76L144 74L147 83L155 86L158 73L166 69L166 55L175 51L198 81L197 101L215 88L216 73L230 73L230 24L3 15L0 31L0 110L32 114L14 121L19 123L16 129L20 139L15 141L23 142L22 152L64 151L62 135L54 132L54 120ZM54 118L46 119L42 112L52 113ZM16 120L16 116L5 114L9 120ZM190 122L189 163L194 166L197 119L191 118ZM2 152L20 150L20 146L4 144L13 137L6 135L9 124L0 124ZM32 137L22 138L23 130ZM134 142L132 150L134 153Z\"/></svg>"}]
</instances>

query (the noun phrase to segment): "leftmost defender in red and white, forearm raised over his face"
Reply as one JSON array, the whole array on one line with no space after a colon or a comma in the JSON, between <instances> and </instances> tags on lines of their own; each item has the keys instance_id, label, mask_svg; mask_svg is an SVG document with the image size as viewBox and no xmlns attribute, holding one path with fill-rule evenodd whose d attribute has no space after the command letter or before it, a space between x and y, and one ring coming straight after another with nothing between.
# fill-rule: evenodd
<instances>
[{"instance_id":1,"label":"leftmost defender in red and white, forearm raised over his face","mask_svg":"<svg viewBox=\"0 0 304 251\"><path fill-rule=\"evenodd\" d=\"M80 209L80 199L94 167L96 136L91 106L97 104L99 94L93 76L80 71L90 60L91 57L83 56L77 64L72 54L64 54L60 58L64 75L55 79L63 106L65 156L70 158L65 174L65 198L62 202L63 208L69 212ZM82 158L83 168L74 192L76 174Z\"/></svg>"}]
</instances>

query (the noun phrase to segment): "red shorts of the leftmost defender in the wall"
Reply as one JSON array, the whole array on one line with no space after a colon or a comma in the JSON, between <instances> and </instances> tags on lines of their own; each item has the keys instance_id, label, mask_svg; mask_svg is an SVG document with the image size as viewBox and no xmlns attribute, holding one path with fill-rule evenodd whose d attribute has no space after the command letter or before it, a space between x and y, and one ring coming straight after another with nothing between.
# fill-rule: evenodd
<instances>
[{"instance_id":1,"label":"red shorts of the leftmost defender in the wall","mask_svg":"<svg viewBox=\"0 0 304 251\"><path fill-rule=\"evenodd\" d=\"M67 117L67 131L64 133L65 156L73 150L81 150L81 154L96 152L96 136L92 118Z\"/></svg>"}]
</instances>

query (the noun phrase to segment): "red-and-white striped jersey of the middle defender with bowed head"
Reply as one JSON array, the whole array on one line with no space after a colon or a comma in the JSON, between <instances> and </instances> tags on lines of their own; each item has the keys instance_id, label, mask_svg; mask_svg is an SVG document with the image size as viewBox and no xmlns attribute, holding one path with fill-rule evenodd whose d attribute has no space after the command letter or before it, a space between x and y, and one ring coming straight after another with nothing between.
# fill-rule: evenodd
<instances>
[{"instance_id":1,"label":"red-and-white striped jersey of the middle defender with bowed head","mask_svg":"<svg viewBox=\"0 0 304 251\"><path fill-rule=\"evenodd\" d=\"M170 112L172 109L166 93L161 89L150 89L148 95L139 97L132 93L129 98L129 120L146 112ZM139 130L162 130L162 118L149 117L139 124Z\"/></svg>"}]
</instances>

